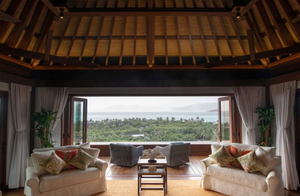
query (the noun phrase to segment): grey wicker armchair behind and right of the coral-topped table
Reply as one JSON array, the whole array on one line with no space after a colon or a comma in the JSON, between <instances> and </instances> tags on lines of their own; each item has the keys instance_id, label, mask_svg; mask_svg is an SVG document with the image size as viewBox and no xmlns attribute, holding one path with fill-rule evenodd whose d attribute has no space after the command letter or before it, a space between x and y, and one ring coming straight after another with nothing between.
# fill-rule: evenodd
<instances>
[{"instance_id":1,"label":"grey wicker armchair behind and right of the coral-topped table","mask_svg":"<svg viewBox=\"0 0 300 196\"><path fill-rule=\"evenodd\" d=\"M156 149L166 157L169 166L182 165L190 162L190 143L170 144L166 147L156 146Z\"/></svg>"}]
</instances>

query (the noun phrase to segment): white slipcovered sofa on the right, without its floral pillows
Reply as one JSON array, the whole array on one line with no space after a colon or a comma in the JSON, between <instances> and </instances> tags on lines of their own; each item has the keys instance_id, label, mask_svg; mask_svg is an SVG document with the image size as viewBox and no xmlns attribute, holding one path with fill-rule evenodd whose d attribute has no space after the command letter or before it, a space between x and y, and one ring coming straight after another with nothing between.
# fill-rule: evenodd
<instances>
[{"instance_id":1,"label":"white slipcovered sofa on the right, without its floral pillows","mask_svg":"<svg viewBox=\"0 0 300 196\"><path fill-rule=\"evenodd\" d=\"M241 150L256 150L258 146L230 143ZM211 145L212 153L221 145ZM275 147L262 147L275 156ZM275 168L264 176L259 172L247 173L235 167L219 167L210 157L200 161L202 169L201 186L230 196L284 196L281 160Z\"/></svg>"}]
</instances>

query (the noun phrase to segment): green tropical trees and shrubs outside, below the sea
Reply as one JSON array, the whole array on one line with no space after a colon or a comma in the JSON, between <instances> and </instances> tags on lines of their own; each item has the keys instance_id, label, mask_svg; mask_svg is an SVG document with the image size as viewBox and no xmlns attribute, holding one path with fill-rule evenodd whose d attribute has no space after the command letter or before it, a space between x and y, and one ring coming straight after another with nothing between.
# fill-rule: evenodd
<instances>
[{"instance_id":1,"label":"green tropical trees and shrubs outside, below the sea","mask_svg":"<svg viewBox=\"0 0 300 196\"><path fill-rule=\"evenodd\" d=\"M125 118L88 121L88 142L218 141L218 123L203 118Z\"/></svg>"}]
</instances>

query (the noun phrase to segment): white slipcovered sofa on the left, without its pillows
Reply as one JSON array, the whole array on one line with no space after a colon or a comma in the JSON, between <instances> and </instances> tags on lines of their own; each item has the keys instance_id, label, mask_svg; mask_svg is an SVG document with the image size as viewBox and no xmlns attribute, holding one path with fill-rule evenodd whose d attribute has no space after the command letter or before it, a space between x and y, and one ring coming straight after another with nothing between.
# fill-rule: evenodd
<instances>
[{"instance_id":1,"label":"white slipcovered sofa on the left, without its pillows","mask_svg":"<svg viewBox=\"0 0 300 196\"><path fill-rule=\"evenodd\" d=\"M35 149L34 152L46 150L74 150L79 146L89 147L86 145L62 146L56 148ZM41 150L41 151L39 151ZM106 169L107 162L97 159L96 167L88 167L85 171L79 169L61 171L60 174L53 176L43 174L38 176L35 172L34 164L31 157L27 158L26 183L24 194L26 196L88 196L106 190Z\"/></svg>"}]
</instances>

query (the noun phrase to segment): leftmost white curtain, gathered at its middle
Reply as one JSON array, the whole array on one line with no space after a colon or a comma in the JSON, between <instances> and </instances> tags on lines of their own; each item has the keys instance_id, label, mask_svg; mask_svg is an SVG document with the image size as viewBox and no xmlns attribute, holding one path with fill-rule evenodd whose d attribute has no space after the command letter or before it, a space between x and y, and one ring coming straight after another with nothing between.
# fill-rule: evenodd
<instances>
[{"instance_id":1,"label":"leftmost white curtain, gathered at its middle","mask_svg":"<svg viewBox=\"0 0 300 196\"><path fill-rule=\"evenodd\" d=\"M26 181L26 159L29 157L26 129L30 124L30 86L11 83L10 98L16 135L8 176L8 188L23 187Z\"/></svg>"}]
</instances>

